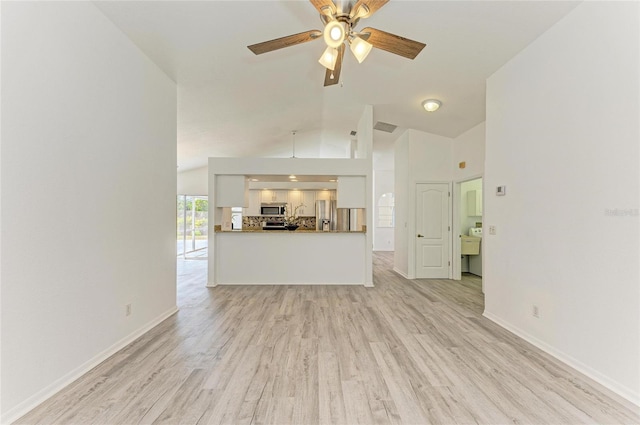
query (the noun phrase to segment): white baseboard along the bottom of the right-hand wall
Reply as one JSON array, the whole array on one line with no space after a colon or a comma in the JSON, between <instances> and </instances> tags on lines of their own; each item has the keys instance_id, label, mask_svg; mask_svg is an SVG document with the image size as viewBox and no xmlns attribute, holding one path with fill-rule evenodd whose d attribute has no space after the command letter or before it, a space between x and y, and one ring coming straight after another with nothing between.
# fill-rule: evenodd
<instances>
[{"instance_id":1,"label":"white baseboard along the bottom of the right-hand wall","mask_svg":"<svg viewBox=\"0 0 640 425\"><path fill-rule=\"evenodd\" d=\"M508 330L512 334L517 335L520 338L527 341L528 343L535 345L537 348L555 357L556 359L560 360L562 363L566 364L567 366L593 379L600 385L604 386L605 388L609 389L610 391L624 398L626 401L632 403L634 406L640 407L640 394L634 392L631 388L627 388L626 386L621 385L620 383L603 375L602 373L591 368L590 366L585 365L584 363L573 358L572 356L550 346L546 342L534 337L533 335L530 335L529 333L523 331L517 326L513 326L512 324L496 316L495 314L485 311L482 315L487 319L491 320L492 322L496 323L497 325Z\"/></svg>"}]
</instances>

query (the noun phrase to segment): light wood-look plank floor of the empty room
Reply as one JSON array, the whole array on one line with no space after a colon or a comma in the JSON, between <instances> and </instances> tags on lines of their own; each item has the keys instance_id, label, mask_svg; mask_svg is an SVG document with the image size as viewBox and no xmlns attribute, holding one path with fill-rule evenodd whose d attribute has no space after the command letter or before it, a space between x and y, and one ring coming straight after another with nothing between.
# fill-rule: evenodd
<instances>
[{"instance_id":1,"label":"light wood-look plank floor of the empty room","mask_svg":"<svg viewBox=\"0 0 640 425\"><path fill-rule=\"evenodd\" d=\"M638 424L637 409L482 317L479 279L207 289L19 424ZM318 267L322 267L319 265Z\"/></svg>"}]
</instances>

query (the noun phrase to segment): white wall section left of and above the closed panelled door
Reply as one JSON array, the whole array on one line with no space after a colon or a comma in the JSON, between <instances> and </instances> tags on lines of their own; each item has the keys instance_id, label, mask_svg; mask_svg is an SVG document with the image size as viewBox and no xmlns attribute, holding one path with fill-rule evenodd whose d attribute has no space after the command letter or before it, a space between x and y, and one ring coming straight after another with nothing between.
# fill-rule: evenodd
<instances>
[{"instance_id":1,"label":"white wall section left of and above the closed panelled door","mask_svg":"<svg viewBox=\"0 0 640 425\"><path fill-rule=\"evenodd\" d=\"M396 141L396 228L394 269L413 279L415 275L415 188L417 183L450 182L452 139L407 130Z\"/></svg>"}]
</instances>

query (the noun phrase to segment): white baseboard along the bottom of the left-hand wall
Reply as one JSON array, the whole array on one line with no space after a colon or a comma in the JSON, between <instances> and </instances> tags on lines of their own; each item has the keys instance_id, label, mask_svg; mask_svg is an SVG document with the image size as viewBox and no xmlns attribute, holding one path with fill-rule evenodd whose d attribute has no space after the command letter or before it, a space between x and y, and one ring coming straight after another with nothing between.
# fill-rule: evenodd
<instances>
[{"instance_id":1,"label":"white baseboard along the bottom of the left-hand wall","mask_svg":"<svg viewBox=\"0 0 640 425\"><path fill-rule=\"evenodd\" d=\"M105 361L106 359L108 359L118 351L122 350L124 347L131 344L133 341L140 338L142 335L144 335L154 327L158 326L161 322L171 317L172 315L176 314L177 312L178 312L177 306L170 308L169 310L165 311L155 319L143 325L141 328L130 333L129 335L122 338L115 344L111 345L106 350L101 351L99 354L89 359L85 363L81 364L71 372L65 374L64 376L57 379L50 385L38 391L28 399L18 404L16 407L8 410L7 412L2 412L2 417L0 418L0 424L10 424L20 419L21 417L29 413L31 410L38 407L40 404L44 403L49 398L53 397L56 393L60 392L62 389L64 389L65 387L73 383L82 375L89 372L91 369L93 369L94 367L96 367L97 365L99 365L100 363L102 363L103 361Z\"/></svg>"}]
</instances>

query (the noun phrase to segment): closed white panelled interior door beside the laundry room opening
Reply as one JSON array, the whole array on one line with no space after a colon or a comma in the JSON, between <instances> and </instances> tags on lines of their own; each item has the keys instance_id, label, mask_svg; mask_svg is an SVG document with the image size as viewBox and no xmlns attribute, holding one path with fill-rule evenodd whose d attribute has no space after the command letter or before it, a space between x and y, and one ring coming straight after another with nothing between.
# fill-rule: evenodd
<instances>
[{"instance_id":1,"label":"closed white panelled interior door beside the laundry room opening","mask_svg":"<svg viewBox=\"0 0 640 425\"><path fill-rule=\"evenodd\" d=\"M447 183L416 186L416 278L449 277L450 199Z\"/></svg>"}]
</instances>

